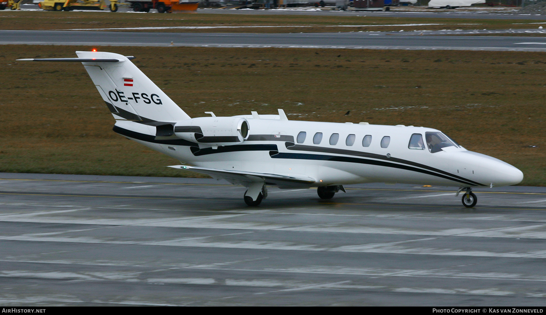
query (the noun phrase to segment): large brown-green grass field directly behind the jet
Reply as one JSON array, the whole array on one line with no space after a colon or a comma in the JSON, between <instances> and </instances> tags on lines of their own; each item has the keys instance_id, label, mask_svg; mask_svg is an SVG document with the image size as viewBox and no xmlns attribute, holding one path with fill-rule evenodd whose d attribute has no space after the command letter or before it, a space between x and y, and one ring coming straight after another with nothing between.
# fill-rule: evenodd
<instances>
[{"instance_id":1,"label":"large brown-green grass field directly behind the jet","mask_svg":"<svg viewBox=\"0 0 546 315\"><path fill-rule=\"evenodd\" d=\"M15 62L74 57L90 47L0 49L0 171L187 174L164 167L177 161L111 131L114 120L81 64ZM106 49L136 56L191 117L283 108L289 119L428 126L520 168L522 185L546 185L544 53Z\"/></svg>"}]
</instances>

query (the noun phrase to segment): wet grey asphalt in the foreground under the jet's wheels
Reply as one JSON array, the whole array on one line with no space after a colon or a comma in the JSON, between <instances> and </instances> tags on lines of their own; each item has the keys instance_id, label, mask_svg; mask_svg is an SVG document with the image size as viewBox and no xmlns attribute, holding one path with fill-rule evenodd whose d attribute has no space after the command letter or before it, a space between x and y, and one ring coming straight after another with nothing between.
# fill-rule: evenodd
<instances>
[{"instance_id":1,"label":"wet grey asphalt in the foreground under the jet's wheels","mask_svg":"<svg viewBox=\"0 0 546 315\"><path fill-rule=\"evenodd\" d=\"M546 305L546 188L0 173L3 305Z\"/></svg>"}]
</instances>

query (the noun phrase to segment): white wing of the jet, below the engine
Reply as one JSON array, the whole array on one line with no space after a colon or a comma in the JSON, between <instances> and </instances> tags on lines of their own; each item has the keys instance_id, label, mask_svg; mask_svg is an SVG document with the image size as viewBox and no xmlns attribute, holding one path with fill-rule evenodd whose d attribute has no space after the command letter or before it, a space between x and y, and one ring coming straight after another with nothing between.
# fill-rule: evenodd
<instances>
[{"instance_id":1,"label":"white wing of the jet, below the engine","mask_svg":"<svg viewBox=\"0 0 546 315\"><path fill-rule=\"evenodd\" d=\"M254 173L245 171L232 171L230 169L207 168L189 165L171 165L168 167L186 169L197 173L211 175L214 178L223 178L230 183L265 181L268 185L279 186L310 186L315 183L315 179L305 175L279 175Z\"/></svg>"}]
</instances>

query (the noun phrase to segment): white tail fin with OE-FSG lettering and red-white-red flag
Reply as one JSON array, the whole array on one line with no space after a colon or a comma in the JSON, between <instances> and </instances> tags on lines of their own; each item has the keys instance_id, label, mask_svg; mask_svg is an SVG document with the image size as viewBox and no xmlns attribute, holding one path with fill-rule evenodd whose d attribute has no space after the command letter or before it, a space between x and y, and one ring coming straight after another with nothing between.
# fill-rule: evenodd
<instances>
[{"instance_id":1,"label":"white tail fin with OE-FSG lettering and red-white-red flag","mask_svg":"<svg viewBox=\"0 0 546 315\"><path fill-rule=\"evenodd\" d=\"M179 122L190 118L129 58L111 52L76 51L76 54L78 59L119 60L82 62L114 118L140 122Z\"/></svg>"}]
</instances>

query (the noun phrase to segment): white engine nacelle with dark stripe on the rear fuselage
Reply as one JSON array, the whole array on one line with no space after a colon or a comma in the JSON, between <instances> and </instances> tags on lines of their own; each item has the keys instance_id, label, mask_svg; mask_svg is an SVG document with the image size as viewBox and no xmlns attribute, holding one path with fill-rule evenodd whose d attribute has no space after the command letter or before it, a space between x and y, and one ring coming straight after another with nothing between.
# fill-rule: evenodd
<instances>
[{"instance_id":1,"label":"white engine nacelle with dark stripe on the rear fuselage","mask_svg":"<svg viewBox=\"0 0 546 315\"><path fill-rule=\"evenodd\" d=\"M177 137L208 146L232 146L248 139L248 122L241 117L197 117L174 125Z\"/></svg>"}]
</instances>

